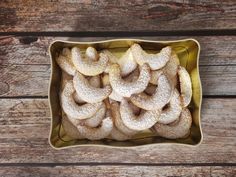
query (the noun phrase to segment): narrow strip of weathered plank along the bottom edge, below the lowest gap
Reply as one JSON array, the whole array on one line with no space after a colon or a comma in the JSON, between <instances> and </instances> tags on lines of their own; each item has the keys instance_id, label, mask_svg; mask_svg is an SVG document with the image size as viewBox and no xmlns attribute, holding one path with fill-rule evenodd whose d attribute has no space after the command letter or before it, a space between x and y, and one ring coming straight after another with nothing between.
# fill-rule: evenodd
<instances>
[{"instance_id":1,"label":"narrow strip of weathered plank along the bottom edge, below the lowest gap","mask_svg":"<svg viewBox=\"0 0 236 177\"><path fill-rule=\"evenodd\" d=\"M185 167L185 166L56 166L56 167L1 167L0 175L4 177L27 176L227 176L234 177L235 167Z\"/></svg>"}]
</instances>

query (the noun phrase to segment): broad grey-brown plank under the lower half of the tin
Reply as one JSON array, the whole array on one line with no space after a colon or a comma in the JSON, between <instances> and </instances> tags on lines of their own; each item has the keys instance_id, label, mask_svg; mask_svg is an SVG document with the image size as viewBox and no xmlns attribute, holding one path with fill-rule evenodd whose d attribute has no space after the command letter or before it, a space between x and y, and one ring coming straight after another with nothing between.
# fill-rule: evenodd
<instances>
[{"instance_id":1,"label":"broad grey-brown plank under the lower half of the tin","mask_svg":"<svg viewBox=\"0 0 236 177\"><path fill-rule=\"evenodd\" d=\"M0 99L0 163L236 163L236 99L204 99L203 142L197 147L159 144L131 149L48 144L46 99Z\"/></svg>"}]
</instances>

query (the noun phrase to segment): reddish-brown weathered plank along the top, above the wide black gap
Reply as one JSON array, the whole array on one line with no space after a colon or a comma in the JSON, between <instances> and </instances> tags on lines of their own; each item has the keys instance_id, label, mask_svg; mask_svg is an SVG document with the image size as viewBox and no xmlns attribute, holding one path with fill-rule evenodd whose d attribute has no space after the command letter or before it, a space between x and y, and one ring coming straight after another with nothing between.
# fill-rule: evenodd
<instances>
[{"instance_id":1,"label":"reddish-brown weathered plank along the top, above the wide black gap","mask_svg":"<svg viewBox=\"0 0 236 177\"><path fill-rule=\"evenodd\" d=\"M227 1L3 1L0 31L173 31L235 29Z\"/></svg>"}]
</instances>

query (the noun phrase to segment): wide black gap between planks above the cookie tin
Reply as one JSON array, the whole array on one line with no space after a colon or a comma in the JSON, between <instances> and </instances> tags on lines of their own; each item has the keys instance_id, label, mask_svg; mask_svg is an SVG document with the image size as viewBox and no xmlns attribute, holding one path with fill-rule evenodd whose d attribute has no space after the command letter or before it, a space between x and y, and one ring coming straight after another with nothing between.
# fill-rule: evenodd
<instances>
[{"instance_id":1,"label":"wide black gap between planks above the cookie tin","mask_svg":"<svg viewBox=\"0 0 236 177\"><path fill-rule=\"evenodd\" d=\"M139 36L231 36L236 29L183 30L183 31L50 31L50 32L0 32L0 36L46 36L46 37L139 37Z\"/></svg>"}]
</instances>

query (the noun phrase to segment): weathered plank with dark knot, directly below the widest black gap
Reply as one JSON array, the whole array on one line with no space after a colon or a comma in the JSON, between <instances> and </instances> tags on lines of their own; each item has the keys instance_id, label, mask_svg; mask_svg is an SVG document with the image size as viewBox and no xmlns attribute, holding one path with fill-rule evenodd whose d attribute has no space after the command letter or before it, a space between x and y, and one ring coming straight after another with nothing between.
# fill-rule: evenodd
<instances>
[{"instance_id":1,"label":"weathered plank with dark knot, directly below the widest black gap","mask_svg":"<svg viewBox=\"0 0 236 177\"><path fill-rule=\"evenodd\" d=\"M99 41L117 37L0 37L0 63L50 64L48 46L53 40ZM132 37L127 37L132 38ZM147 40L194 38L201 45L200 65L236 64L236 36L152 36L133 37Z\"/></svg>"}]
</instances>

